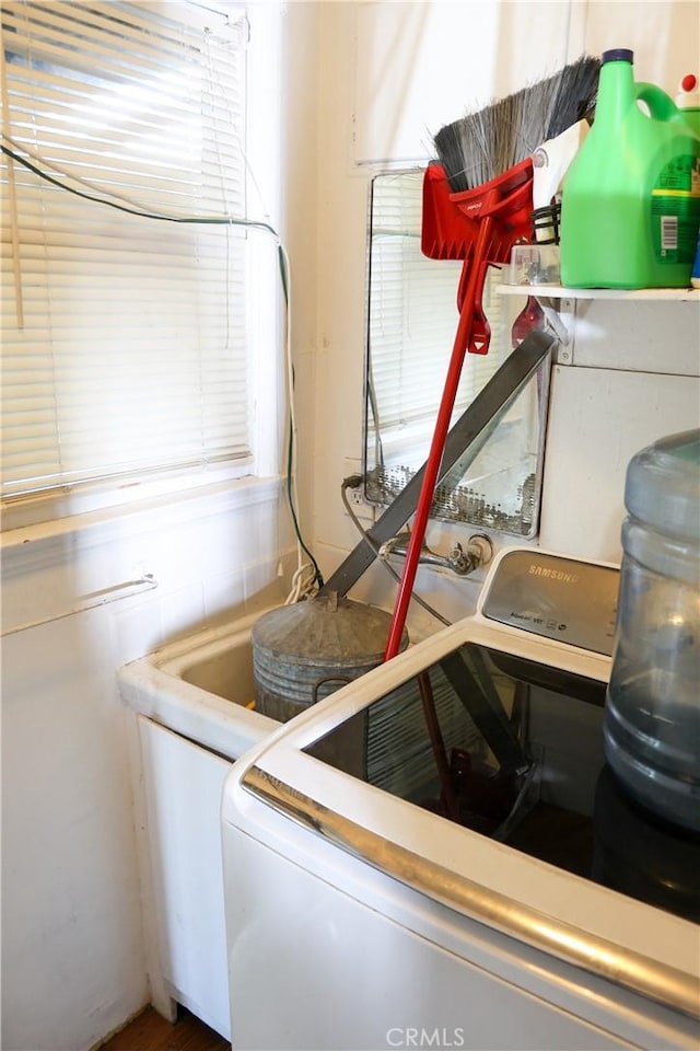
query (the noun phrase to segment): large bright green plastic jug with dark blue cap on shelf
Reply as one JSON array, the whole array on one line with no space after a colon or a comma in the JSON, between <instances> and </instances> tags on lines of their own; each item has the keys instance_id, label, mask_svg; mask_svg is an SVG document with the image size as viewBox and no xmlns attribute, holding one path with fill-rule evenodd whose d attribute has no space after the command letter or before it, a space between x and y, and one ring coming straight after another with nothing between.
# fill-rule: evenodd
<instances>
[{"instance_id":1,"label":"large bright green plastic jug with dark blue cap on shelf","mask_svg":"<svg viewBox=\"0 0 700 1051\"><path fill-rule=\"evenodd\" d=\"M627 48L603 54L593 127L564 177L561 282L571 288L690 285L700 138L661 88L634 81L632 62Z\"/></svg>"}]
</instances>

